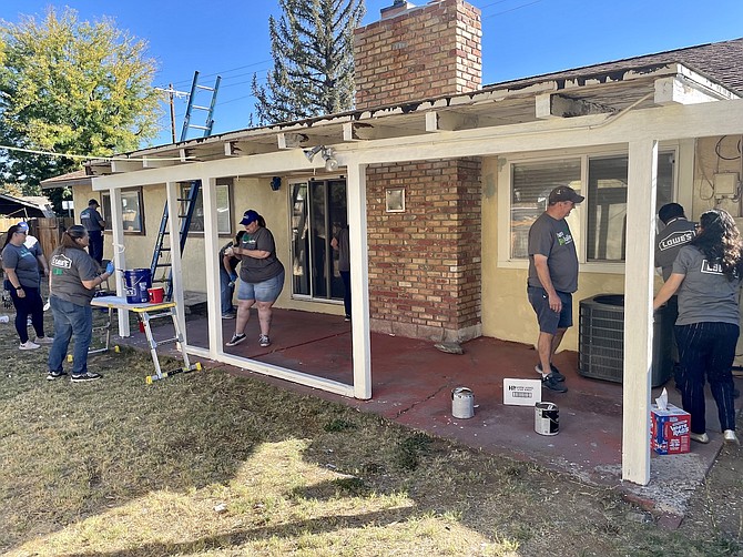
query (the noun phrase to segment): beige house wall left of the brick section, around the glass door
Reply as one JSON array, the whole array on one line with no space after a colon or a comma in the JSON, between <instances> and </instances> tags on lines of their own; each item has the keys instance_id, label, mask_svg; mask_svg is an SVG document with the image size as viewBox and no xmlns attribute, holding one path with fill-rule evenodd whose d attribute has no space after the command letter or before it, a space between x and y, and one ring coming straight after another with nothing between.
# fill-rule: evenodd
<instances>
[{"instance_id":1,"label":"beige house wall left of the brick section, around the glass door","mask_svg":"<svg viewBox=\"0 0 743 557\"><path fill-rule=\"evenodd\" d=\"M240 220L245 211L254 209L266 220L266 226L271 230L276 242L278 259L286 270L284 291L276 302L276 307L305 310L317 313L343 315L343 304L322 302L306 302L292 300L292 265L289 253L289 225L288 225L288 195L289 186L286 180L279 191L275 192L269 185L271 179L238 178L234 181L232 192L233 232L243 227ZM155 239L160 230L160 222L165 206L165 185L149 185L142 190L144 204L144 225L146 235L125 234L124 255L126 269L150 267L154 251ZM73 189L75 207L86 207L88 200L101 199L101 192L93 192L90 188L77 186ZM80 211L77 213L79 214ZM80 217L75 219L80 223ZM231 236L220 236L220 246L230 241ZM103 257L113 259L113 245L111 233L106 233L103 240ZM216 254L214 255L216 257ZM206 275L204 273L204 239L201 235L190 235L184 250L183 280L186 290L195 292L206 291Z\"/></svg>"}]
</instances>

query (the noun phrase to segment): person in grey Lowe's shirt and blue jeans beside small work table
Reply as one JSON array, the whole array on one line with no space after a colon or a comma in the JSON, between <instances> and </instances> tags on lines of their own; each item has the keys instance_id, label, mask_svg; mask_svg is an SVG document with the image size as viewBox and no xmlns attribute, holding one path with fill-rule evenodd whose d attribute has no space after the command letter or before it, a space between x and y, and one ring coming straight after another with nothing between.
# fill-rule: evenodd
<instances>
[{"instance_id":1,"label":"person in grey Lowe's shirt and blue jeans beside small work table","mask_svg":"<svg viewBox=\"0 0 743 557\"><path fill-rule=\"evenodd\" d=\"M85 251L88 243L84 226L70 226L50 259L49 304L54 316L55 336L49 351L49 381L67 375L62 364L73 336L72 382L101 378L98 373L88 371L88 347L93 336L90 303L95 287L113 274L113 264L109 263L105 272L99 275L98 262Z\"/></svg>"}]
</instances>

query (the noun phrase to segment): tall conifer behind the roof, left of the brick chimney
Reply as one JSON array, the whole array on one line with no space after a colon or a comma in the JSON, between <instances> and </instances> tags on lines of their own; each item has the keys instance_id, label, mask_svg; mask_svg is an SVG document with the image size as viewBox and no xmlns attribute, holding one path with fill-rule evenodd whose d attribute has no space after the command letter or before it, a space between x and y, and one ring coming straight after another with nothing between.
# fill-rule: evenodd
<instances>
[{"instance_id":1,"label":"tall conifer behind the roof, left of the brick chimney","mask_svg":"<svg viewBox=\"0 0 743 557\"><path fill-rule=\"evenodd\" d=\"M274 68L265 85L253 75L261 124L332 114L354 107L354 29L364 0L278 0L268 18Z\"/></svg>"}]
</instances>

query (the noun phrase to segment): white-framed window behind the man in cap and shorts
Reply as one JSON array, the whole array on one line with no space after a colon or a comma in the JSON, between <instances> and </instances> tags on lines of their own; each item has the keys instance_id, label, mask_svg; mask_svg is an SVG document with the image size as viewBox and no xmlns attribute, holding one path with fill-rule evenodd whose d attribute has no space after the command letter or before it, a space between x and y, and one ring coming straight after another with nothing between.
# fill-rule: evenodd
<instances>
[{"instance_id":1,"label":"white-framed window behind the man in cap and shorts","mask_svg":"<svg viewBox=\"0 0 743 557\"><path fill-rule=\"evenodd\" d=\"M673 151L659 153L655 201L659 207L673 201L674 160ZM628 169L627 154L511 163L510 259L528 257L529 229L547 209L550 191L559 185L569 185L586 196L586 201L568 217L577 243L584 242L586 261L623 262L627 251ZM582 211L586 211L584 219L581 219Z\"/></svg>"}]
</instances>

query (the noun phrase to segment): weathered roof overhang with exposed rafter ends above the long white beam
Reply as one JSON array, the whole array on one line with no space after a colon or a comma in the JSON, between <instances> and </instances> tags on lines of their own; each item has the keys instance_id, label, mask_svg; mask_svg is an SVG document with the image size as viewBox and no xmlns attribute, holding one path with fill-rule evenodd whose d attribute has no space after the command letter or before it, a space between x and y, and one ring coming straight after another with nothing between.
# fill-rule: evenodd
<instances>
[{"instance_id":1,"label":"weathered roof overhang with exposed rafter ends above the long white beam","mask_svg":"<svg viewBox=\"0 0 743 557\"><path fill-rule=\"evenodd\" d=\"M315 145L357 143L363 149L369 140L434 136L447 131L611 114L628 108L737 98L736 92L682 64L661 64L580 79L519 82L510 88L492 85L455 97L240 130L93 160L88 165L93 175L108 175Z\"/></svg>"}]
</instances>

